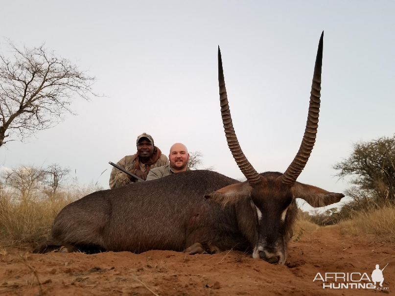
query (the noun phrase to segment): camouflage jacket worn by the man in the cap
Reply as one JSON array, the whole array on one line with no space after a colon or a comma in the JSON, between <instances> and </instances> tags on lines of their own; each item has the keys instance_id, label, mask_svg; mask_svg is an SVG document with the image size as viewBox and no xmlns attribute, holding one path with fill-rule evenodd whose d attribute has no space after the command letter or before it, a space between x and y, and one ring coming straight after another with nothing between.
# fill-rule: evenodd
<instances>
[{"instance_id":1,"label":"camouflage jacket worn by the man in the cap","mask_svg":"<svg viewBox=\"0 0 395 296\"><path fill-rule=\"evenodd\" d=\"M119 165L121 168L124 168L125 170L133 173L133 167L135 162L136 159L134 155L127 155L123 159L119 160L116 164ZM151 172L151 169L159 166L163 166L168 163L169 160L165 155L162 154L161 157L157 160L157 162L149 166L149 170ZM132 182L137 182L137 180L133 179L133 181L131 181L124 172L118 170L116 167L113 167L113 170L111 171L110 174L110 182L109 182L111 189L119 188L127 184L130 184Z\"/></svg>"}]
</instances>

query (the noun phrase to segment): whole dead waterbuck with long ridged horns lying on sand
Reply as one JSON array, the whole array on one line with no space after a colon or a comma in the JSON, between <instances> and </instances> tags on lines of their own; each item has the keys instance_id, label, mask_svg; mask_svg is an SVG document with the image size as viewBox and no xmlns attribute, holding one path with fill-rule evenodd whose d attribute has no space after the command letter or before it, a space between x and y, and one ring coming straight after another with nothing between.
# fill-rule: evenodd
<instances>
[{"instance_id":1,"label":"whole dead waterbuck with long ridged horns lying on sand","mask_svg":"<svg viewBox=\"0 0 395 296\"><path fill-rule=\"evenodd\" d=\"M284 264L297 216L296 198L314 207L343 194L296 182L313 149L320 107L323 35L318 46L307 125L298 154L285 173L258 174L240 149L232 126L221 53L218 77L228 146L247 178L239 182L207 170L92 193L65 206L46 243L34 252L250 250L254 258ZM214 201L214 202L213 202Z\"/></svg>"}]
</instances>

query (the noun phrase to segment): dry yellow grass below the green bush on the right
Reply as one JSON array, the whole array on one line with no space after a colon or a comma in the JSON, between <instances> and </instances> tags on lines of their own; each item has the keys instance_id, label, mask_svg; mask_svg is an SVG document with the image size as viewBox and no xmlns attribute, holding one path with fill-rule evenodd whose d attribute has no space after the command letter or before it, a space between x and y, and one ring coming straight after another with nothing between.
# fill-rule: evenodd
<instances>
[{"instance_id":1,"label":"dry yellow grass below the green bush on the right","mask_svg":"<svg viewBox=\"0 0 395 296\"><path fill-rule=\"evenodd\" d=\"M338 225L344 234L374 235L382 242L395 242L395 205L356 212Z\"/></svg>"}]
</instances>

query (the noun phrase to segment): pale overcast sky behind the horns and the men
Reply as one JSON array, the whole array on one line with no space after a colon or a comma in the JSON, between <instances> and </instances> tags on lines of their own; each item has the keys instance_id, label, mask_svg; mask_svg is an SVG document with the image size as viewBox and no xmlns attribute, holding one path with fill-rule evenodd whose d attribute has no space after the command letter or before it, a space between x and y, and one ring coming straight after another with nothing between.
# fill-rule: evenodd
<instances>
[{"instance_id":1,"label":"pale overcast sky behind the horns and the men","mask_svg":"<svg viewBox=\"0 0 395 296\"><path fill-rule=\"evenodd\" d=\"M1 147L7 168L58 163L108 188L108 161L134 154L145 132L165 155L182 142L205 167L242 178L222 127L219 45L243 152L258 172L283 172L302 140L323 30L317 141L298 181L343 192L332 166L352 143L394 135L395 1L0 0L0 10L1 37L45 42L107 96L76 99L78 115Z\"/></svg>"}]
</instances>

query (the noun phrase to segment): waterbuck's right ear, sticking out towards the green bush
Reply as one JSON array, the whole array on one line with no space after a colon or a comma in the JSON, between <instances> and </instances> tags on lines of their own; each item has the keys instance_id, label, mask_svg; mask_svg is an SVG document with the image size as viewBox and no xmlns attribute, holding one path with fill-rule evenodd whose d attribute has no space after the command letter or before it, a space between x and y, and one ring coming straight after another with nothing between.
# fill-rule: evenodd
<instances>
[{"instance_id":1,"label":"waterbuck's right ear, sticking out towards the green bush","mask_svg":"<svg viewBox=\"0 0 395 296\"><path fill-rule=\"evenodd\" d=\"M291 187L291 192L294 198L301 198L314 207L332 205L340 202L344 197L344 194L342 193L329 192L324 189L299 182L295 182Z\"/></svg>"}]
</instances>

